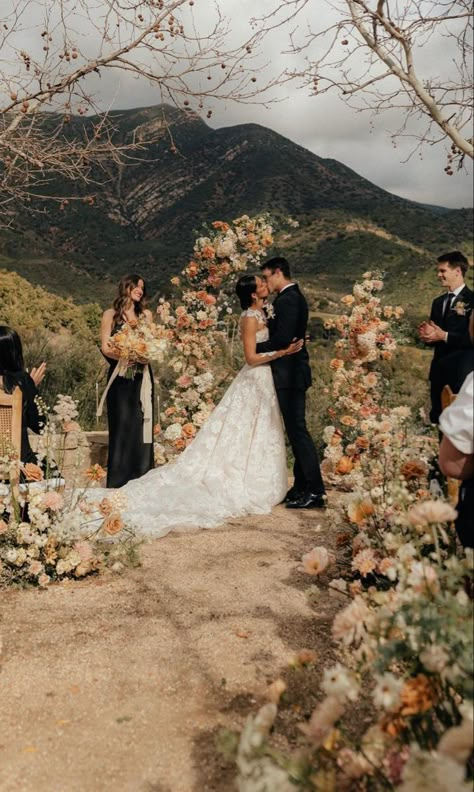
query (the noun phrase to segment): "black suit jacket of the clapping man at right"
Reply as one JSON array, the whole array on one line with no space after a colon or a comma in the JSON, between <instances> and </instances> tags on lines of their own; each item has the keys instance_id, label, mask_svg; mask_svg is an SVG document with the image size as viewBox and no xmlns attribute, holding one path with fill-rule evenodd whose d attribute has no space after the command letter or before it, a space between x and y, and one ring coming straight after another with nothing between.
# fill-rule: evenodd
<instances>
[{"instance_id":1,"label":"black suit jacket of the clapping man at right","mask_svg":"<svg viewBox=\"0 0 474 792\"><path fill-rule=\"evenodd\" d=\"M437 382L440 388L450 385L457 393L474 368L474 347L468 331L469 317L474 309L474 292L464 286L448 310L444 310L445 299L446 293L441 294L431 305L430 319L446 330L448 340L432 345L430 380Z\"/></svg>"}]
</instances>

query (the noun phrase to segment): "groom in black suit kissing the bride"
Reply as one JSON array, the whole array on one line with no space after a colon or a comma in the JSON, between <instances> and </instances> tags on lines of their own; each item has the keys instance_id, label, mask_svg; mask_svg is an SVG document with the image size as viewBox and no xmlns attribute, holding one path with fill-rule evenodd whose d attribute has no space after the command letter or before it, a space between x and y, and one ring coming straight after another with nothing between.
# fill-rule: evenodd
<instances>
[{"instance_id":1,"label":"groom in black suit kissing the bride","mask_svg":"<svg viewBox=\"0 0 474 792\"><path fill-rule=\"evenodd\" d=\"M308 305L298 285L291 280L286 259L277 256L261 265L269 291L277 297L268 314L269 341L257 344L257 352L284 349L293 339L305 338ZM305 347L295 355L271 363L273 381L286 433L295 457L293 487L284 503L288 509L321 509L325 489L316 448L306 426L306 391L311 385L309 355Z\"/></svg>"}]
</instances>

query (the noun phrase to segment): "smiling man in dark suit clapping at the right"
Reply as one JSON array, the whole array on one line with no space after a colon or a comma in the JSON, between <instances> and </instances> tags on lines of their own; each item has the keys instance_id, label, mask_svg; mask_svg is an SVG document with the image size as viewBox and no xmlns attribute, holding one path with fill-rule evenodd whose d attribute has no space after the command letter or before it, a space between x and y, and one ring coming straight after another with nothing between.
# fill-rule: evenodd
<instances>
[{"instance_id":1,"label":"smiling man in dark suit clapping at the right","mask_svg":"<svg viewBox=\"0 0 474 792\"><path fill-rule=\"evenodd\" d=\"M474 369L474 347L468 329L474 292L464 283L468 266L459 250L439 256L438 279L447 293L433 300L429 322L422 322L418 328L421 340L434 350L430 367L432 423L438 423L442 411L444 386L449 385L457 393Z\"/></svg>"}]
</instances>

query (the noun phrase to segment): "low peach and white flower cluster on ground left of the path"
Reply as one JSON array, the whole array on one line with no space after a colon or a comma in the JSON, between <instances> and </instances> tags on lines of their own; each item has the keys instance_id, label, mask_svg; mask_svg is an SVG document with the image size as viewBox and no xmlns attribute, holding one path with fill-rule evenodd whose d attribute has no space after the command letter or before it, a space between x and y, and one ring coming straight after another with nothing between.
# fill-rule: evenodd
<instances>
[{"instance_id":1,"label":"low peach and white flower cluster on ground left of the path","mask_svg":"<svg viewBox=\"0 0 474 792\"><path fill-rule=\"evenodd\" d=\"M86 486L65 489L61 454L70 432L80 433L77 404L59 396L53 410L41 402L45 417L39 437L39 464L22 464L10 449L0 459L0 585L48 586L82 578L106 567L119 571L136 560L136 540L124 524L126 504L118 494L99 505L87 501L88 487L105 477L99 465L87 471ZM77 456L78 472L81 468ZM21 474L21 483L16 482ZM113 537L113 541L112 538Z\"/></svg>"}]
</instances>

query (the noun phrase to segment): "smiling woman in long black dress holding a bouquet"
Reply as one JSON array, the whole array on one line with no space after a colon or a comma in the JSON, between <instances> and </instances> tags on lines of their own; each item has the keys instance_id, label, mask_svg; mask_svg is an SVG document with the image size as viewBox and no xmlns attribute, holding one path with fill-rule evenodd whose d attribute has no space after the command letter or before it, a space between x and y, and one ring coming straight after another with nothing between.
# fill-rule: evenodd
<instances>
[{"instance_id":1,"label":"smiling woman in long black dress holding a bouquet","mask_svg":"<svg viewBox=\"0 0 474 792\"><path fill-rule=\"evenodd\" d=\"M117 356L111 351L109 339L125 323L140 317L152 321L146 308L145 281L136 273L125 275L119 283L118 295L113 308L104 311L101 325L101 349L110 370L107 382L117 366ZM122 487L130 479L139 478L152 469L153 465L153 377L147 361L135 367L133 378L116 376L107 393L107 417L109 424L109 458L107 464L107 487ZM142 404L142 384L146 371L151 380L148 389L145 421L145 405Z\"/></svg>"}]
</instances>

